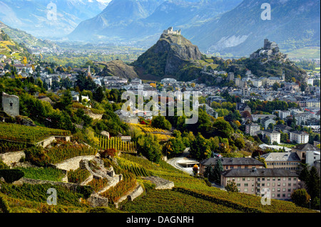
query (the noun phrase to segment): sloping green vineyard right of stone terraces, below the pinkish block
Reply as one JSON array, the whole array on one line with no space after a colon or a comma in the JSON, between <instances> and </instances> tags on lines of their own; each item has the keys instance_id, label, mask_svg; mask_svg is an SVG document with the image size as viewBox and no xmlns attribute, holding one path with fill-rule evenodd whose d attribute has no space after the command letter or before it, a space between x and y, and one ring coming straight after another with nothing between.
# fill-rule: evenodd
<instances>
[{"instance_id":1,"label":"sloping green vineyard right of stone terraces, below the pinkish block","mask_svg":"<svg viewBox=\"0 0 321 227\"><path fill-rule=\"evenodd\" d=\"M121 161L120 165L136 163L138 167L144 167L151 176L159 176L163 179L173 181L173 190L149 190L145 196L141 196L132 203L123 205L122 211L127 212L264 212L264 213L302 213L314 212L307 208L296 206L289 201L272 199L270 206L263 206L260 197L243 193L229 193L209 187L203 179L183 173L178 169L161 161L159 164L148 162L146 159L126 154L121 156L128 162ZM166 201L173 201L168 204ZM185 202L184 202L185 201ZM196 202L198 201L198 202ZM180 204L184 204L180 206ZM162 204L161 207L155 204ZM174 205L173 205L174 204ZM191 206L193 204L194 206ZM204 204L198 207L197 204ZM212 208L210 208L212 207Z\"/></svg>"}]
</instances>

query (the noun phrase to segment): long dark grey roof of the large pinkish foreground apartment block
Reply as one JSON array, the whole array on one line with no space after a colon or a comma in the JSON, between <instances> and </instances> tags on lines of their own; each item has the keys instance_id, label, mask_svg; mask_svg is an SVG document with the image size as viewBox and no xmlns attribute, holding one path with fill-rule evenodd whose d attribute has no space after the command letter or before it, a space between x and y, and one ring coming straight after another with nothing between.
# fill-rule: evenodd
<instances>
[{"instance_id":1,"label":"long dark grey roof of the large pinkish foreground apartment block","mask_svg":"<svg viewBox=\"0 0 321 227\"><path fill-rule=\"evenodd\" d=\"M225 177L242 177L242 176L297 176L295 172L287 169L229 169L222 173Z\"/></svg>"}]
</instances>

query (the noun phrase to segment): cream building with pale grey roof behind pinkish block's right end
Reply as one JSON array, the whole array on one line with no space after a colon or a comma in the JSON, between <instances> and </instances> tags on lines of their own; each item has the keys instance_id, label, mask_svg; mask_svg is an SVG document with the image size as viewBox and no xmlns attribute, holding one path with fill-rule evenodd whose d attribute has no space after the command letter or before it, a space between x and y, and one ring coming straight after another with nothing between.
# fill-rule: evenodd
<instances>
[{"instance_id":1,"label":"cream building with pale grey roof behind pinkish block's right end","mask_svg":"<svg viewBox=\"0 0 321 227\"><path fill-rule=\"evenodd\" d=\"M262 154L268 169L287 169L296 171L301 162L300 157L295 152L271 152Z\"/></svg>"}]
</instances>

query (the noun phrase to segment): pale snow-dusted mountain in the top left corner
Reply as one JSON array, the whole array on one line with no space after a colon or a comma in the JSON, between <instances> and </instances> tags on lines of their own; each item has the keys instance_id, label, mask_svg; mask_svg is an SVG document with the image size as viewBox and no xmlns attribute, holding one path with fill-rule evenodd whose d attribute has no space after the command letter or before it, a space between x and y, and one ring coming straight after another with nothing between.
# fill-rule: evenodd
<instances>
[{"instance_id":1,"label":"pale snow-dusted mountain in the top left corner","mask_svg":"<svg viewBox=\"0 0 321 227\"><path fill-rule=\"evenodd\" d=\"M1 0L0 21L39 38L57 38L71 33L81 21L101 13L109 1Z\"/></svg>"}]
</instances>

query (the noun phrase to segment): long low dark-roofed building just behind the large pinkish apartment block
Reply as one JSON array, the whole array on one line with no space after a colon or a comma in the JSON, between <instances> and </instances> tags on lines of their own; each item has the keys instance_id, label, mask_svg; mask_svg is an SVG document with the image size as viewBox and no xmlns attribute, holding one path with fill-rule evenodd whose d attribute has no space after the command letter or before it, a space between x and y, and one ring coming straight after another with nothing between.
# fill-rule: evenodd
<instances>
[{"instance_id":1,"label":"long low dark-roofed building just behind the large pinkish apartment block","mask_svg":"<svg viewBox=\"0 0 321 227\"><path fill-rule=\"evenodd\" d=\"M257 169L264 168L264 164L257 159L253 158L209 158L200 162L200 174L203 175L205 172L205 167L210 165L215 166L216 162L220 159L224 170L228 169L252 169L253 167Z\"/></svg>"}]
</instances>

